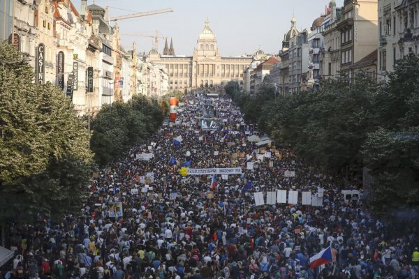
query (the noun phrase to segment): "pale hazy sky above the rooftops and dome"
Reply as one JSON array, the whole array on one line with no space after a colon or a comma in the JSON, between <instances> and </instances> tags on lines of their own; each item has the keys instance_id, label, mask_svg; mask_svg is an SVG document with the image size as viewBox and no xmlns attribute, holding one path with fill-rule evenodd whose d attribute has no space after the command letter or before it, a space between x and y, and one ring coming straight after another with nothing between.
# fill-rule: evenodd
<instances>
[{"instance_id":1,"label":"pale hazy sky above the rooftops and dome","mask_svg":"<svg viewBox=\"0 0 419 279\"><path fill-rule=\"evenodd\" d=\"M313 21L325 12L330 0L95 0L99 6L110 6L110 16L172 8L174 12L137 17L118 22L121 33L156 33L173 39L176 54L191 55L196 40L204 27L206 17L216 35L222 56L253 53L260 45L267 53L281 49L284 33L291 27L293 13L297 28L311 27ZM88 0L87 4L93 3ZM344 0L336 0L342 6ZM80 10L80 0L73 0ZM112 23L113 24L113 23ZM149 51L153 38L122 36L122 45L138 51ZM163 52L164 41L159 41Z\"/></svg>"}]
</instances>

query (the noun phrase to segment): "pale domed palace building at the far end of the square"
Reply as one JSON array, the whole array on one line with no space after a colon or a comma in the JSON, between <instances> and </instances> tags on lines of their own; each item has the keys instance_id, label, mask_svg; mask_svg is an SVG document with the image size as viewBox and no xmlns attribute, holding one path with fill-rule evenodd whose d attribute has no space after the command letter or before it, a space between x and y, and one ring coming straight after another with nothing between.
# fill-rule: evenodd
<instances>
[{"instance_id":1,"label":"pale domed palace building at the far end of the square","mask_svg":"<svg viewBox=\"0 0 419 279\"><path fill-rule=\"evenodd\" d=\"M208 20L205 20L192 56L175 55L172 42L169 50L165 45L163 55L155 49L147 55L147 61L166 66L171 90L217 87L230 80L237 80L242 85L244 67L252 60L252 56L221 56Z\"/></svg>"}]
</instances>

